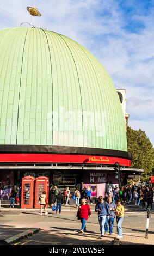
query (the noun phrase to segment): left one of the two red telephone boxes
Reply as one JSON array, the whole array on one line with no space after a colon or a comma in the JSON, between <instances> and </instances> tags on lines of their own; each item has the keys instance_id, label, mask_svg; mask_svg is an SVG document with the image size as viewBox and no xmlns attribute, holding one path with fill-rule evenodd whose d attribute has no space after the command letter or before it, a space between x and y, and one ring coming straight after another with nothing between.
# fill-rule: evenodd
<instances>
[{"instance_id":1,"label":"left one of the two red telephone boxes","mask_svg":"<svg viewBox=\"0 0 154 256\"><path fill-rule=\"evenodd\" d=\"M22 178L21 208L33 208L34 202L34 177Z\"/></svg>"}]
</instances>

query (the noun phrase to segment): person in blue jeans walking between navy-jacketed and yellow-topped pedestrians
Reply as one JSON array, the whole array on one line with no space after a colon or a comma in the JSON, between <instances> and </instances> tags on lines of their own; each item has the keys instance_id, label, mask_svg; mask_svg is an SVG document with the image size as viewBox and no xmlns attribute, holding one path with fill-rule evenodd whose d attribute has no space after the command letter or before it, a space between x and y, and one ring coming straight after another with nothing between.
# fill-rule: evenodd
<instances>
[{"instance_id":1,"label":"person in blue jeans walking between navy-jacketed and yellow-topped pedestrians","mask_svg":"<svg viewBox=\"0 0 154 256\"><path fill-rule=\"evenodd\" d=\"M108 232L108 224L109 224L109 234L112 235L113 233L113 226L114 226L114 218L115 218L115 210L116 210L116 205L113 202L112 203L112 198L108 197L108 206L110 210L110 218L106 217L106 223L105 223L105 233Z\"/></svg>"}]
</instances>

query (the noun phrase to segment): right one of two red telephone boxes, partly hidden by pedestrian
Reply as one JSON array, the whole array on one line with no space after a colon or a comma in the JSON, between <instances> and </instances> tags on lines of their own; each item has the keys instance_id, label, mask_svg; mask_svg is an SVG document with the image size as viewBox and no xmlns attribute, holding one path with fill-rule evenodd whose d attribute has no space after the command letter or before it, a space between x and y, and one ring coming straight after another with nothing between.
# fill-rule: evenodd
<instances>
[{"instance_id":1,"label":"right one of two red telephone boxes, partly hidden by pedestrian","mask_svg":"<svg viewBox=\"0 0 154 256\"><path fill-rule=\"evenodd\" d=\"M35 183L35 208L40 208L39 198L43 191L46 192L46 198L48 202L48 189L49 189L49 182L47 177L38 177L36 178Z\"/></svg>"}]
</instances>

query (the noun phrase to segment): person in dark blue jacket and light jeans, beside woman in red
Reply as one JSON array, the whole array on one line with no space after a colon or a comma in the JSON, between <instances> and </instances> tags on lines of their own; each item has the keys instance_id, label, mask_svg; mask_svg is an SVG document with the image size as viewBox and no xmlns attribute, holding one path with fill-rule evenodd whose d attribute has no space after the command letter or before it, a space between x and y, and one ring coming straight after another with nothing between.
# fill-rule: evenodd
<instances>
[{"instance_id":1,"label":"person in dark blue jacket and light jeans, beside woman in red","mask_svg":"<svg viewBox=\"0 0 154 256\"><path fill-rule=\"evenodd\" d=\"M104 226L106 222L106 217L109 219L110 217L110 210L108 203L104 201L103 197L98 197L98 203L95 205L95 212L98 212L98 222L100 224L100 231L101 236L100 238L103 239L104 236Z\"/></svg>"}]
</instances>

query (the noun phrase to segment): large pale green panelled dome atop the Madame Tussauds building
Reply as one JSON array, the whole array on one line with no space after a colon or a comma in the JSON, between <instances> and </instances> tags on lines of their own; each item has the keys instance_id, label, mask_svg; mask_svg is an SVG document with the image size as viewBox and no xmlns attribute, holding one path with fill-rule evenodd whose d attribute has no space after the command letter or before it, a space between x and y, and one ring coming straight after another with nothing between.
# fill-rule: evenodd
<instances>
[{"instance_id":1,"label":"large pale green panelled dome atop the Madame Tussauds building","mask_svg":"<svg viewBox=\"0 0 154 256\"><path fill-rule=\"evenodd\" d=\"M107 71L64 35L1 29L0 144L127 151L124 115Z\"/></svg>"}]
</instances>

